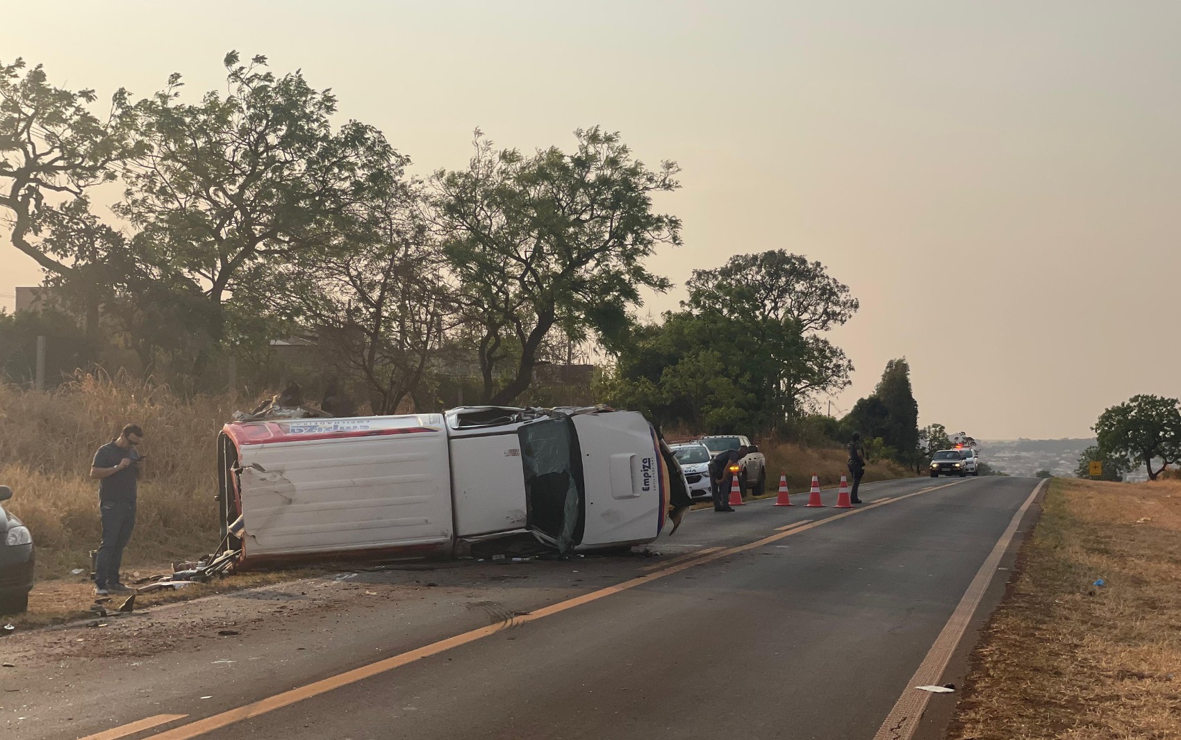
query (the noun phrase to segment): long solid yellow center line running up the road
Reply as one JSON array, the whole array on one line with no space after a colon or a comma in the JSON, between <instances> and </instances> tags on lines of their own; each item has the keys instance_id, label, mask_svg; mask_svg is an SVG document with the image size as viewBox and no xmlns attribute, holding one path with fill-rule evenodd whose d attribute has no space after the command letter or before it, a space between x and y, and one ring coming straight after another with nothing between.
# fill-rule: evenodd
<instances>
[{"instance_id":1,"label":"long solid yellow center line running up the road","mask_svg":"<svg viewBox=\"0 0 1181 740\"><path fill-rule=\"evenodd\" d=\"M589 604L590 602L596 602L607 596L613 596L615 593L620 593L621 591L627 591L628 589L634 589L635 586L651 583L653 580L657 580L658 578L664 578L665 576L672 576L673 573L679 573L680 571L687 570L690 567L697 567L698 565L712 563L713 560L725 558L738 552L746 552L748 550L755 550L756 547L762 547L763 545L781 540L785 537L791 537L792 534L805 532L808 530L811 530L813 527L818 527L830 521L836 521L837 519L843 519L844 517L860 514L862 512L867 512L872 508L876 508L885 504L893 504L895 501L909 499L911 496L916 496L920 493L938 491L940 488L947 488L948 486L957 486L961 482L964 481L955 481L954 483L934 486L932 488L924 488L921 491L908 493L906 495L901 495L895 499L889 499L888 501L875 501L874 504L870 504L868 506L863 506L861 508L854 508L841 514L835 514L833 517L827 517L818 521L810 521L808 524L801 522L802 526L795 527L787 532L771 534L769 537L764 537L762 539L748 543L745 545L738 545L735 547L723 547L720 550L710 553L694 553L697 556L696 558L683 560L677 564L670 564L666 567L654 571L652 573L647 573L645 576L637 576L635 578L625 580L622 583L618 583L613 586L606 586L596 591L590 591L581 596L568 598L565 602L557 602L556 604L550 604L549 606L542 606L541 609L536 609L527 615L516 616L513 618L513 624L524 624L527 622L536 622L537 619L549 617L555 614L560 614L568 609L574 609L575 606L581 606L582 604ZM295 687L287 692L275 694L274 696L260 699L259 701L255 701L253 703L236 707L234 709L228 709L220 714L214 714L211 716L207 716L204 719L189 722L188 725L182 725L181 727L176 727L174 729L164 731L159 734L151 735L151 738L155 738L155 740L189 740L191 738L203 735L215 729L221 729L222 727L228 727L229 725L234 725L243 720L249 720L252 718L267 714L268 712L274 712L275 709L281 709L295 702L304 701L305 699L312 699L313 696L326 694L333 689L338 689L344 686L348 686L351 683L357 683L358 681L364 681L365 679L370 679L372 676L393 670L394 668L400 668L402 666L420 661L425 657L438 655L439 653L451 650L452 648L458 648L470 642L483 640L484 637L495 635L496 632L501 631L502 629L505 629L507 627L508 623L502 622L497 624L489 624L488 627L482 627L466 632L462 632L459 635L455 635L452 637L433 642L429 645L423 645L422 648L409 650L400 655L393 655L387 658L368 663L367 666L361 666L360 668L353 668L352 670L346 670L341 674L337 674L335 676L321 679L320 681L313 681L312 683ZM118 738L122 735L112 735L112 736Z\"/></svg>"}]
</instances>

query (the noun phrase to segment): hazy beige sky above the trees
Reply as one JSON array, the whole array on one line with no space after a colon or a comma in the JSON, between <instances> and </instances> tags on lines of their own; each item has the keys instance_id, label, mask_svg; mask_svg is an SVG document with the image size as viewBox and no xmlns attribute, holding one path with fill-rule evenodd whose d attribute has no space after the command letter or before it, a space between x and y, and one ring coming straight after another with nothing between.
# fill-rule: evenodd
<instances>
[{"instance_id":1,"label":"hazy beige sky above the trees","mask_svg":"<svg viewBox=\"0 0 1181 740\"><path fill-rule=\"evenodd\" d=\"M861 299L836 409L906 356L920 423L1057 437L1181 394L1179 28L1175 1L47 0L7 4L0 59L107 97L221 90L227 51L267 54L424 174L475 126L527 150L619 130L684 168L659 272L785 248ZM39 280L8 245L0 274Z\"/></svg>"}]
</instances>

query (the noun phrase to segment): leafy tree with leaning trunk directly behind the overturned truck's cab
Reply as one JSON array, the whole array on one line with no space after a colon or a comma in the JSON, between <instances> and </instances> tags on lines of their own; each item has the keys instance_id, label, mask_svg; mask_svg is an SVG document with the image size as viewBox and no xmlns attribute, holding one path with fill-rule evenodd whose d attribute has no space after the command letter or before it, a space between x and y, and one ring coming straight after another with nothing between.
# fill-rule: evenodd
<instances>
[{"instance_id":1,"label":"leafy tree with leaning trunk directly behind the overturned truck's cab","mask_svg":"<svg viewBox=\"0 0 1181 740\"><path fill-rule=\"evenodd\" d=\"M529 387L555 327L609 343L626 329L640 288L666 290L644 260L680 244L680 221L652 210L679 187L679 168L650 170L619 134L575 131L570 154L495 150L476 131L468 169L435 174L438 226L466 320L477 327L484 401L508 403ZM510 368L509 379L497 375Z\"/></svg>"}]
</instances>

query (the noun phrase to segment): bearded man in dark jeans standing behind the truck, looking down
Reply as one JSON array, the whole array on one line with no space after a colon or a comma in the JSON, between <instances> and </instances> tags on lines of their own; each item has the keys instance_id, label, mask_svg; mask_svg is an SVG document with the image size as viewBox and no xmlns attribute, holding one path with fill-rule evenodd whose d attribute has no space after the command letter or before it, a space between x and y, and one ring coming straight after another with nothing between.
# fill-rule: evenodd
<instances>
[{"instance_id":1,"label":"bearded man in dark jeans standing behind the truck, looking down","mask_svg":"<svg viewBox=\"0 0 1181 740\"><path fill-rule=\"evenodd\" d=\"M99 481L98 509L103 519L103 544L94 562L94 593L99 596L131 590L119 583L119 566L136 526L136 482L144 459L136 447L143 441L143 429L128 424L118 439L98 448L90 468L90 476Z\"/></svg>"}]
</instances>

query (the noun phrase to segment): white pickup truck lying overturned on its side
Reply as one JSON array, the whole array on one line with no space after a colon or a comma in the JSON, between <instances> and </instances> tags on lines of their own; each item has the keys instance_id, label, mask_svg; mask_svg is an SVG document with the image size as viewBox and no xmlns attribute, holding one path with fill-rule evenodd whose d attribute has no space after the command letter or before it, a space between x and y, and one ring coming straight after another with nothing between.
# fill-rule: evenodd
<instances>
[{"instance_id":1,"label":"white pickup truck lying overturned on its side","mask_svg":"<svg viewBox=\"0 0 1181 740\"><path fill-rule=\"evenodd\" d=\"M652 541L668 467L638 413L469 407L226 424L220 517L243 569L449 557L531 533L561 553Z\"/></svg>"}]
</instances>

